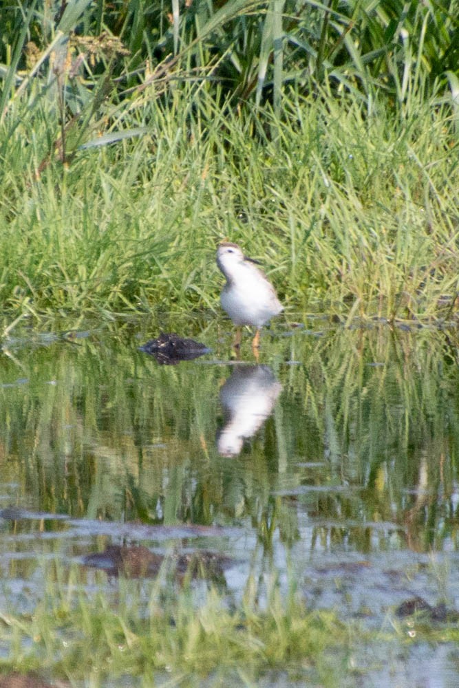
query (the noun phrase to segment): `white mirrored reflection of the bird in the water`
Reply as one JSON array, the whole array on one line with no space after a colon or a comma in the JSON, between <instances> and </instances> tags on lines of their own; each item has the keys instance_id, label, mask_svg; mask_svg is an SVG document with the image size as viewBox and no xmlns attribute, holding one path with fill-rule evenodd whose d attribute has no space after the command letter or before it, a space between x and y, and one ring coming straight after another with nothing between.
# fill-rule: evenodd
<instances>
[{"instance_id":1,"label":"white mirrored reflection of the bird in the water","mask_svg":"<svg viewBox=\"0 0 459 688\"><path fill-rule=\"evenodd\" d=\"M244 440L271 415L282 389L268 365L238 365L220 389L225 422L217 438L222 456L237 456Z\"/></svg>"}]
</instances>

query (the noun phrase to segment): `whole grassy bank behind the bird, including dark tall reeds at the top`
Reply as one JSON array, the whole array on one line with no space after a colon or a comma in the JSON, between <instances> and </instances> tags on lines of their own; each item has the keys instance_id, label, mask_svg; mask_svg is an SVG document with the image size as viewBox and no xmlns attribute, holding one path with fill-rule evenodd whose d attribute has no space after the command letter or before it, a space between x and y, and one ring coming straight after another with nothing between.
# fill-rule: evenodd
<instances>
[{"instance_id":1,"label":"whole grassy bank behind the bird, including dark tall reeds at the top","mask_svg":"<svg viewBox=\"0 0 459 688\"><path fill-rule=\"evenodd\" d=\"M457 1L300 6L1 8L12 321L212 311L224 237L292 317L451 316Z\"/></svg>"}]
</instances>

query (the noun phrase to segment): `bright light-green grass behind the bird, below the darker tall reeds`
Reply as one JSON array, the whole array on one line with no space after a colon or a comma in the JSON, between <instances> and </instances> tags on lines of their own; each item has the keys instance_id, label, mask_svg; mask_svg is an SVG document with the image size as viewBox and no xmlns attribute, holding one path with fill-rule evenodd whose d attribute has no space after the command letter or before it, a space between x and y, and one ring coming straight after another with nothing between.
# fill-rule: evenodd
<instances>
[{"instance_id":1,"label":"bright light-green grass behind the bird, below the darker tall reeds","mask_svg":"<svg viewBox=\"0 0 459 688\"><path fill-rule=\"evenodd\" d=\"M440 94L413 93L398 116L377 97L291 97L282 121L217 111L193 85L176 96L120 109L118 127L143 133L65 165L47 158L52 104L10 111L0 298L12 315L217 308L214 249L229 237L291 310L441 316L458 288L459 170Z\"/></svg>"}]
</instances>

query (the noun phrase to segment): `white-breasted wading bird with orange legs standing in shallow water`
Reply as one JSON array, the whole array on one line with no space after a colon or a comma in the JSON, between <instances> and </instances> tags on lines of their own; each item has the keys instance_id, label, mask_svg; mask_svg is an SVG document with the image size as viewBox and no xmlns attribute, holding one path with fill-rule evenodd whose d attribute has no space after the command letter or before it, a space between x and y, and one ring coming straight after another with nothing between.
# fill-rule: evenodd
<instances>
[{"instance_id":1,"label":"white-breasted wading bird with orange legs standing in shallow water","mask_svg":"<svg viewBox=\"0 0 459 688\"><path fill-rule=\"evenodd\" d=\"M252 342L254 353L259 348L261 327L284 310L273 285L257 264L231 241L222 241L217 248L217 266L226 277L220 303L238 326L234 347L238 350L241 343L240 326L252 325L257 328Z\"/></svg>"}]
</instances>

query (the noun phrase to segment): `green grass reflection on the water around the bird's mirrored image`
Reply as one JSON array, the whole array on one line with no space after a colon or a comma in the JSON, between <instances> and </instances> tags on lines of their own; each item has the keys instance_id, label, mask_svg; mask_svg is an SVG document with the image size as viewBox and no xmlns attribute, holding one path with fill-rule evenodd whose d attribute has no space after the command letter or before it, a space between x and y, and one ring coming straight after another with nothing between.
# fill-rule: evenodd
<instances>
[{"instance_id":1,"label":"green grass reflection on the water around the bird's mirrored image","mask_svg":"<svg viewBox=\"0 0 459 688\"><path fill-rule=\"evenodd\" d=\"M0 389L3 480L19 480L25 506L50 512L250 523L268 549L277 532L288 543L297 539L301 511L343 526L394 522L401 546L441 547L455 537L448 525L459 447L452 337L387 327L267 337L262 356L301 365L276 363L284 389L273 416L232 460L215 449L218 394L231 368L161 367L131 346L134 332L115 328L111 338L98 334L81 345L27 355L19 348L29 382ZM205 340L213 343L209 333ZM17 365L4 361L3 380L17 377ZM301 467L308 462L320 467ZM322 491L273 496L308 485ZM350 489L334 490L341 486ZM333 537L350 537L363 551L372 546L360 527L335 528Z\"/></svg>"}]
</instances>

